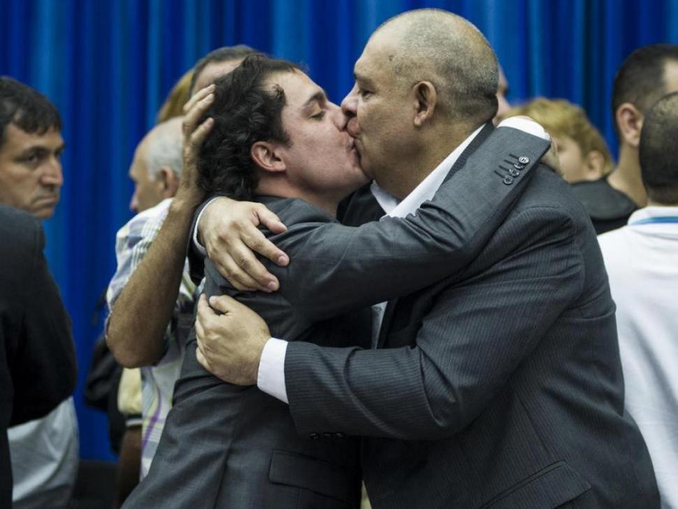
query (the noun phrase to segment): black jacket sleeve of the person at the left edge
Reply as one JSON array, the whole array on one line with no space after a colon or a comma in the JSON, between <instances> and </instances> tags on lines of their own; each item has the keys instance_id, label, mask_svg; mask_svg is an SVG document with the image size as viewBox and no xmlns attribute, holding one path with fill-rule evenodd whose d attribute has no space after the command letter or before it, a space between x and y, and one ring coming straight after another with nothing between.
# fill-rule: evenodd
<instances>
[{"instance_id":1,"label":"black jacket sleeve of the person at the left edge","mask_svg":"<svg viewBox=\"0 0 678 509\"><path fill-rule=\"evenodd\" d=\"M75 348L59 290L43 254L45 236L33 222L34 251L26 287L17 350L10 361L14 380L11 425L48 414L75 390Z\"/></svg>"}]
</instances>

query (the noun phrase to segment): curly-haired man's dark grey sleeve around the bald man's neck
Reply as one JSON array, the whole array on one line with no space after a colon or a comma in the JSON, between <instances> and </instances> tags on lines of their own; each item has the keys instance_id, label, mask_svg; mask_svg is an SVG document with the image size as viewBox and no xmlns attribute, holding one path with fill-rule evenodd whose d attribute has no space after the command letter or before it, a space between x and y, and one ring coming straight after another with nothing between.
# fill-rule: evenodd
<instances>
[{"instance_id":1,"label":"curly-haired man's dark grey sleeve around the bald man's neck","mask_svg":"<svg viewBox=\"0 0 678 509\"><path fill-rule=\"evenodd\" d=\"M359 228L336 222L295 224L273 241L290 254L269 265L280 293L310 321L324 320L414 292L464 268L482 250L525 189L549 142L509 127L496 129L432 201L405 220L388 217ZM530 161L505 180L511 152ZM507 183L510 182L510 183Z\"/></svg>"}]
</instances>

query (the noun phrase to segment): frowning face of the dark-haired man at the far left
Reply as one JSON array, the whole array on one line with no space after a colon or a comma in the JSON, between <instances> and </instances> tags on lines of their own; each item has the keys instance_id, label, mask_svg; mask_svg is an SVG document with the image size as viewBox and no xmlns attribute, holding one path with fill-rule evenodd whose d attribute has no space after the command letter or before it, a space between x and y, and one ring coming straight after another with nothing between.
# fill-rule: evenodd
<instances>
[{"instance_id":1,"label":"frowning face of the dark-haired man at the far left","mask_svg":"<svg viewBox=\"0 0 678 509\"><path fill-rule=\"evenodd\" d=\"M52 217L64 185L61 133L55 129L45 134L27 133L8 124L4 138L0 145L0 203L38 219Z\"/></svg>"}]
</instances>

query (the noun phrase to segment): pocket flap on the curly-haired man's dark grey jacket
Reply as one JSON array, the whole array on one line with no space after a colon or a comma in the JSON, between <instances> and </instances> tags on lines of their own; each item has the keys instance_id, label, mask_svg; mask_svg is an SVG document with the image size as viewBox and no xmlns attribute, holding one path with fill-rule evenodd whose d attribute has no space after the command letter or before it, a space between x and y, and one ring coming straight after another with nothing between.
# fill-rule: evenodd
<instances>
[{"instance_id":1,"label":"pocket flap on the curly-haired man's dark grey jacket","mask_svg":"<svg viewBox=\"0 0 678 509\"><path fill-rule=\"evenodd\" d=\"M357 481L340 466L294 452L273 451L268 479L278 484L310 489L325 496L353 502Z\"/></svg>"}]
</instances>

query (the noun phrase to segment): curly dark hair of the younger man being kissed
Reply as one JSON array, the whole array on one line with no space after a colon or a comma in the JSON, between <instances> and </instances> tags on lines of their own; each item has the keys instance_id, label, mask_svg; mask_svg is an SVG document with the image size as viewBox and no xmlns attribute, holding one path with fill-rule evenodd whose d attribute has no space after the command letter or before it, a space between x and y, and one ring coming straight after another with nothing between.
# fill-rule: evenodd
<instances>
[{"instance_id":1,"label":"curly dark hair of the younger man being kissed","mask_svg":"<svg viewBox=\"0 0 678 509\"><path fill-rule=\"evenodd\" d=\"M215 99L203 120L214 119L198 157L199 184L208 194L251 199L259 178L250 149L257 141L289 143L282 127L284 90L266 89L273 73L299 71L286 60L252 55L215 81Z\"/></svg>"}]
</instances>

